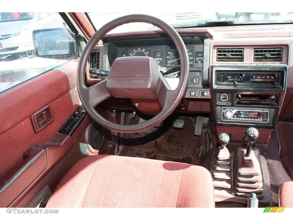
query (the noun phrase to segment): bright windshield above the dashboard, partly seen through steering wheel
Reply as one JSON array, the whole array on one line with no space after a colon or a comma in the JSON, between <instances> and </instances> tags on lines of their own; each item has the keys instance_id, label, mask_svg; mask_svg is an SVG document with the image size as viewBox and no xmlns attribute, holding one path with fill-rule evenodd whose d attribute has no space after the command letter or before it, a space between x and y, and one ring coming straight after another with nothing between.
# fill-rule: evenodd
<instances>
[{"instance_id":1,"label":"bright windshield above the dashboard, partly seen through steering wheel","mask_svg":"<svg viewBox=\"0 0 293 220\"><path fill-rule=\"evenodd\" d=\"M96 13L88 12L93 25L99 29L104 24L115 18L135 14L132 12ZM271 24L293 23L293 12L182 12L182 13L150 13L169 23L174 28L198 27L198 26L228 26L243 24ZM130 23L119 26L109 33L155 30L157 27L147 23Z\"/></svg>"}]
</instances>

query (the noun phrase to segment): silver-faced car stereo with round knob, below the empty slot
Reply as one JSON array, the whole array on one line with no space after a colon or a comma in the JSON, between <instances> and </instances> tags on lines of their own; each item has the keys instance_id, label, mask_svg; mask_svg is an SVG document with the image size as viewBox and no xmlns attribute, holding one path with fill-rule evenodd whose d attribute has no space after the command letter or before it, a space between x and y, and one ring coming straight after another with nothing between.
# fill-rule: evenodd
<instances>
[{"instance_id":1,"label":"silver-faced car stereo with round knob, below the empty slot","mask_svg":"<svg viewBox=\"0 0 293 220\"><path fill-rule=\"evenodd\" d=\"M222 121L269 123L269 109L222 108Z\"/></svg>"}]
</instances>

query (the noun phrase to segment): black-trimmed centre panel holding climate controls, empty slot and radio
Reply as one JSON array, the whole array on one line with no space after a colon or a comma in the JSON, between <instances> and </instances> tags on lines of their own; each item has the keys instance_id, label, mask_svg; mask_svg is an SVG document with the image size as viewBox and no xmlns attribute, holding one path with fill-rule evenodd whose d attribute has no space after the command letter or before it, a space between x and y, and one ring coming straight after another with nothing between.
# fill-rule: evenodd
<instances>
[{"instance_id":1,"label":"black-trimmed centre panel holding climate controls, empty slot and radio","mask_svg":"<svg viewBox=\"0 0 293 220\"><path fill-rule=\"evenodd\" d=\"M287 65L215 65L212 72L217 126L275 126L285 95Z\"/></svg>"}]
</instances>

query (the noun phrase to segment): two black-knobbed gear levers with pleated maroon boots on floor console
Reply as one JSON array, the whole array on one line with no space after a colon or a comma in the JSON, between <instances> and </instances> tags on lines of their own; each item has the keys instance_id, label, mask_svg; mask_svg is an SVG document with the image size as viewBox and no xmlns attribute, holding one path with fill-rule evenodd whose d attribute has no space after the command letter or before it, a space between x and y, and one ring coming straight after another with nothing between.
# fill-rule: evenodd
<instances>
[{"instance_id":1,"label":"two black-knobbed gear levers with pleated maroon boots on floor console","mask_svg":"<svg viewBox=\"0 0 293 220\"><path fill-rule=\"evenodd\" d=\"M213 177L215 201L230 201L248 204L248 197L257 198L259 207L271 206L270 177L265 158L259 148L253 148L259 131L249 127L243 134L248 145L229 152L226 147L230 137L221 133L219 147L213 153L211 173ZM255 204L258 207L258 204Z\"/></svg>"}]
</instances>

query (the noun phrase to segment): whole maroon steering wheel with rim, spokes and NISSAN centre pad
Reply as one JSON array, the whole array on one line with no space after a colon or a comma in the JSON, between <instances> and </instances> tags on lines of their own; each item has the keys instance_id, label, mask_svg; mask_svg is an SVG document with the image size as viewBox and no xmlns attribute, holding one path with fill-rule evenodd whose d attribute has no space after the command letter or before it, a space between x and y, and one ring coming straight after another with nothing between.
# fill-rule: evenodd
<instances>
[{"instance_id":1,"label":"whole maroon steering wheel with rim, spokes and NISSAN centre pad","mask_svg":"<svg viewBox=\"0 0 293 220\"><path fill-rule=\"evenodd\" d=\"M152 57L117 58L108 75L108 79L91 87L86 87L85 72L89 56L98 41L112 29L126 23L144 22L161 28L173 40L180 57L181 71L179 84L171 89L161 75L157 61ZM127 15L117 18L101 27L86 44L78 64L77 89L79 97L88 114L101 126L121 133L135 133L152 128L166 119L182 99L189 73L189 61L186 47L180 35L173 27L159 18L148 15ZM109 97L129 99L157 99L161 111L148 121L134 125L120 125L108 121L98 114L95 107Z\"/></svg>"}]
</instances>

